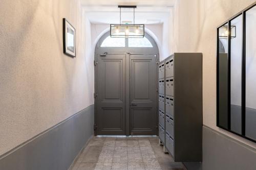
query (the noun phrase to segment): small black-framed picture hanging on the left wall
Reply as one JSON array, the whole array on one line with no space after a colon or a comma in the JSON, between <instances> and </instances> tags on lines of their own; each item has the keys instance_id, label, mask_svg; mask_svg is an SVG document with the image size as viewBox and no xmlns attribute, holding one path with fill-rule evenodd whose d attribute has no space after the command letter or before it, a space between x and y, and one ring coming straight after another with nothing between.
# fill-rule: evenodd
<instances>
[{"instance_id":1,"label":"small black-framed picture hanging on the left wall","mask_svg":"<svg viewBox=\"0 0 256 170\"><path fill-rule=\"evenodd\" d=\"M76 30L63 18L63 53L76 57Z\"/></svg>"}]
</instances>

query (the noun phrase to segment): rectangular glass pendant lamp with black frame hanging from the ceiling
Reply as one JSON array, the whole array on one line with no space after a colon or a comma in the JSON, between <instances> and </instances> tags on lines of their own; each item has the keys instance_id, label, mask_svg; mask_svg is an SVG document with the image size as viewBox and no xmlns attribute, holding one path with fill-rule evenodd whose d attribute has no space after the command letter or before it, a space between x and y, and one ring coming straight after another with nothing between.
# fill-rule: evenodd
<instances>
[{"instance_id":1,"label":"rectangular glass pendant lamp with black frame hanging from the ceiling","mask_svg":"<svg viewBox=\"0 0 256 170\"><path fill-rule=\"evenodd\" d=\"M110 25L110 36L115 38L143 38L143 24L135 24L135 8L137 6L118 6L120 8L120 23ZM121 24L121 8L133 8L133 24Z\"/></svg>"}]
</instances>

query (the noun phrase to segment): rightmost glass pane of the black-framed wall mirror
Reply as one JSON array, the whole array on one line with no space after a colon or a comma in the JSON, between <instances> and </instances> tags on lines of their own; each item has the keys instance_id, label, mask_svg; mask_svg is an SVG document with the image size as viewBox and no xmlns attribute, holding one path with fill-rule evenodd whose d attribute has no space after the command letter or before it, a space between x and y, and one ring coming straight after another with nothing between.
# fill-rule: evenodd
<instances>
[{"instance_id":1,"label":"rightmost glass pane of the black-framed wall mirror","mask_svg":"<svg viewBox=\"0 0 256 170\"><path fill-rule=\"evenodd\" d=\"M256 6L246 12L245 135L256 140Z\"/></svg>"}]
</instances>

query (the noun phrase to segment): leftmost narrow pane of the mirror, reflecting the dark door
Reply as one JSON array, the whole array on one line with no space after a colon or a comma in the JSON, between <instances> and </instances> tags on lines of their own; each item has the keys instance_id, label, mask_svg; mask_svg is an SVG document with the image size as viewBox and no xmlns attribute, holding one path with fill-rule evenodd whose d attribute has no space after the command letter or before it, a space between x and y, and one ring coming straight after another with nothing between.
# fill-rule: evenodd
<instances>
[{"instance_id":1,"label":"leftmost narrow pane of the mirror, reflecting the dark door","mask_svg":"<svg viewBox=\"0 0 256 170\"><path fill-rule=\"evenodd\" d=\"M227 28L227 23L219 28L219 126L228 129L228 39L223 29Z\"/></svg>"}]
</instances>

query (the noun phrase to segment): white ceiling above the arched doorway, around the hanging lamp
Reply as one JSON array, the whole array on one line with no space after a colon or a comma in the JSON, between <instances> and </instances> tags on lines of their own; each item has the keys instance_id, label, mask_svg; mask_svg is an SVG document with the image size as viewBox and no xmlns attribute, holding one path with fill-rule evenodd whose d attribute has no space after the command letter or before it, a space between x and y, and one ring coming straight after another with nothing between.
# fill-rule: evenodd
<instances>
[{"instance_id":1,"label":"white ceiling above the arched doorway, around the hanging lamp","mask_svg":"<svg viewBox=\"0 0 256 170\"><path fill-rule=\"evenodd\" d=\"M91 23L109 24L120 22L118 5L137 5L135 23L159 24L170 15L176 0L82 0L83 10ZM121 21L133 21L133 9L121 9Z\"/></svg>"}]
</instances>

